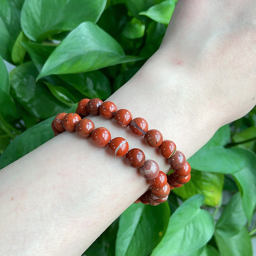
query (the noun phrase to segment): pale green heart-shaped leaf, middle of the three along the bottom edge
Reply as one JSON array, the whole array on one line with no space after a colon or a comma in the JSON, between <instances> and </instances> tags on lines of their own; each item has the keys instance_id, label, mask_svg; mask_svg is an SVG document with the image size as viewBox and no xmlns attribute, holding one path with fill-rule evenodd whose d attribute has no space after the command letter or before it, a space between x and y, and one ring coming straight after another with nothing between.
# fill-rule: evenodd
<instances>
[{"instance_id":1,"label":"pale green heart-shaped leaf, middle of the three along the bottom edge","mask_svg":"<svg viewBox=\"0 0 256 256\"><path fill-rule=\"evenodd\" d=\"M179 206L172 214L166 233L151 256L187 255L211 239L214 220L209 212L200 208L203 202L203 195L195 195Z\"/></svg>"}]
</instances>

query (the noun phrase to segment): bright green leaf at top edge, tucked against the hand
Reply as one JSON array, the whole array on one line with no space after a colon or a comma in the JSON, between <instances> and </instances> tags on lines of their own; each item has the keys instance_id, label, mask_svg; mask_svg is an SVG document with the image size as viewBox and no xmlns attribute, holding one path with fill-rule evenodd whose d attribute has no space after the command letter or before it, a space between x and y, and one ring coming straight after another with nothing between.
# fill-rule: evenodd
<instances>
[{"instance_id":1,"label":"bright green leaf at top edge, tucked against the hand","mask_svg":"<svg viewBox=\"0 0 256 256\"><path fill-rule=\"evenodd\" d=\"M155 20L156 22L168 24L172 17L174 8L175 1L167 0L161 4L151 6L146 12L140 12L139 14L148 16L150 19Z\"/></svg>"}]
</instances>

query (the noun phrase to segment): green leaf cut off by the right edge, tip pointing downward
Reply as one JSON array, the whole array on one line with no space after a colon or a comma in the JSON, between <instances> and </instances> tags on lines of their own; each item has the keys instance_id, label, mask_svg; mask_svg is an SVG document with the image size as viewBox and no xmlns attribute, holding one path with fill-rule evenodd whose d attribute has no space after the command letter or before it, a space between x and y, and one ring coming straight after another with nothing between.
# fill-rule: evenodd
<instances>
[{"instance_id":1,"label":"green leaf cut off by the right edge, tip pointing downward","mask_svg":"<svg viewBox=\"0 0 256 256\"><path fill-rule=\"evenodd\" d=\"M243 157L246 161L244 168L239 172L233 173L239 191L242 195L242 205L245 215L250 222L256 205L256 156L254 153L244 148L233 148L233 150Z\"/></svg>"}]
</instances>

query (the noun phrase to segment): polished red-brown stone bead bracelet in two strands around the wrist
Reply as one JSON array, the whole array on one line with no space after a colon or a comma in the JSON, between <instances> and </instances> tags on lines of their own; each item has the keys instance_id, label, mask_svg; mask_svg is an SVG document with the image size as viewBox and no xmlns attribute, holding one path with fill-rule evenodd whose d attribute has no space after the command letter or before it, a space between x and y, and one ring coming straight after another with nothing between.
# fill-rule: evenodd
<instances>
[{"instance_id":1,"label":"polished red-brown stone bead bracelet in two strands around the wrist","mask_svg":"<svg viewBox=\"0 0 256 256\"><path fill-rule=\"evenodd\" d=\"M167 158L173 172L166 175L159 170L154 160L145 160L145 154L139 148L129 150L128 142L121 137L111 140L108 129L98 127L88 118L101 115L105 119L114 119L121 127L128 127L138 136L144 136L145 143L153 148L158 147L159 153ZM82 119L83 118L83 119ZM91 137L92 143L100 148L108 146L109 152L116 157L126 157L127 164L139 168L140 175L149 180L151 187L134 203L158 205L167 200L170 190L182 187L190 180L191 167L184 154L176 150L172 140L163 140L162 133L156 129L148 130L148 123L144 118L132 119L132 114L127 109L117 110L116 104L111 101L103 102L100 99L80 100L76 113L60 113L52 121L54 136L68 131L76 132L82 138Z\"/></svg>"}]
</instances>

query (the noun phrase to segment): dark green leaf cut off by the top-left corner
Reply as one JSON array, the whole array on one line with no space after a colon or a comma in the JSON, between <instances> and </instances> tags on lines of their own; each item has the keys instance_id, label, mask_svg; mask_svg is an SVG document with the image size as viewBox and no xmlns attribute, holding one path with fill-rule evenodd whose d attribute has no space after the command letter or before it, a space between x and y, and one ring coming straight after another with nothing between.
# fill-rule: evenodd
<instances>
[{"instance_id":1,"label":"dark green leaf cut off by the top-left corner","mask_svg":"<svg viewBox=\"0 0 256 256\"><path fill-rule=\"evenodd\" d=\"M12 47L20 33L20 11L9 0L0 0L0 55L12 62Z\"/></svg>"}]
</instances>

